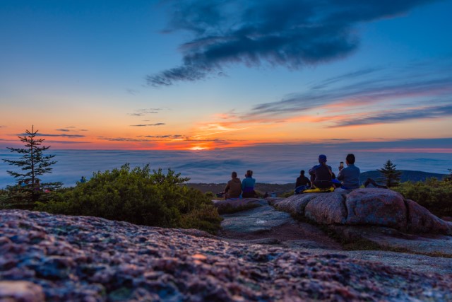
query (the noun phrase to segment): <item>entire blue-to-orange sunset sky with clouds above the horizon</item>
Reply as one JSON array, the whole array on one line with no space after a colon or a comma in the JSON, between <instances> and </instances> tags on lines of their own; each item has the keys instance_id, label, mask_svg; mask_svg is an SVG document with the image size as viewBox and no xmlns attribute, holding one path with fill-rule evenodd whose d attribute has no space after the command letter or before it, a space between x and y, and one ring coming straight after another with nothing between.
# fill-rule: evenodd
<instances>
[{"instance_id":1,"label":"entire blue-to-orange sunset sky with clouds above the horizon","mask_svg":"<svg viewBox=\"0 0 452 302\"><path fill-rule=\"evenodd\" d=\"M451 13L452 0L0 0L0 146L34 125L54 149L452 153Z\"/></svg>"}]
</instances>

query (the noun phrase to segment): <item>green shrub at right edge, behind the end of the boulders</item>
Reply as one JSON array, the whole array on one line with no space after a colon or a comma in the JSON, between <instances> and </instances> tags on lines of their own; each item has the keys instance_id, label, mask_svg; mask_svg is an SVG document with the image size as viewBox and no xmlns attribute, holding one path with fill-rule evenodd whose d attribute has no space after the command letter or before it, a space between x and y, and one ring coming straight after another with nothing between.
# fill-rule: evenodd
<instances>
[{"instance_id":1,"label":"green shrub at right edge, behind the end of the boulders","mask_svg":"<svg viewBox=\"0 0 452 302\"><path fill-rule=\"evenodd\" d=\"M452 182L429 178L424 182L403 182L392 190L400 192L436 216L452 216Z\"/></svg>"}]
</instances>

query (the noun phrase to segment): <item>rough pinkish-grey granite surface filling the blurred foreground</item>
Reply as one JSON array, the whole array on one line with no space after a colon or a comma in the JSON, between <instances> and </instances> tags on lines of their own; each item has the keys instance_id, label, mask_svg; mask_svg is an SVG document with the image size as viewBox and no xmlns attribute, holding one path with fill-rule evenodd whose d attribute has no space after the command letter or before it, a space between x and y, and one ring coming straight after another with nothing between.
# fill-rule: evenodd
<instances>
[{"instance_id":1,"label":"rough pinkish-grey granite surface filling the blurred foreground","mask_svg":"<svg viewBox=\"0 0 452 302\"><path fill-rule=\"evenodd\" d=\"M452 300L451 274L19 210L0 211L0 279L0 301L14 288L46 301Z\"/></svg>"}]
</instances>

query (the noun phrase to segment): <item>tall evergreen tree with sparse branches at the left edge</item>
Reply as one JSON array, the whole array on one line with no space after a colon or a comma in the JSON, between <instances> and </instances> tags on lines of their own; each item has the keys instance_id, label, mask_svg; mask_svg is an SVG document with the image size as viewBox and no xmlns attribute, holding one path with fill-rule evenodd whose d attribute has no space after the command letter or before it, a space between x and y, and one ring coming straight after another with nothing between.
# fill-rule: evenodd
<instances>
[{"instance_id":1,"label":"tall evergreen tree with sparse branches at the left edge","mask_svg":"<svg viewBox=\"0 0 452 302\"><path fill-rule=\"evenodd\" d=\"M44 139L36 139L38 130L26 130L23 137L18 137L25 144L25 148L8 148L11 152L22 154L18 160L4 159L10 165L16 165L20 172L6 171L18 181L18 185L9 187L13 199L20 199L22 202L36 202L43 192L55 190L61 187L61 182L41 182L41 176L45 173L52 173L51 165L57 163L52 161L54 155L44 156L49 146L41 146ZM17 198L16 198L17 197Z\"/></svg>"}]
</instances>

